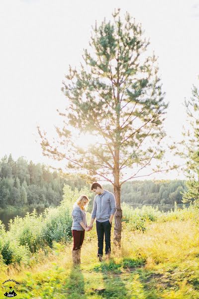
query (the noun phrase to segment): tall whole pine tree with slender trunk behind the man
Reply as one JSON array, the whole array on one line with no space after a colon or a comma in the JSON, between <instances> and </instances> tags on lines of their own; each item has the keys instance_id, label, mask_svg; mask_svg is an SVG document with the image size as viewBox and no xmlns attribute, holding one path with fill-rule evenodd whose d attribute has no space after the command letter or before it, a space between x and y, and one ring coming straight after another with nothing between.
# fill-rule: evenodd
<instances>
[{"instance_id":1,"label":"tall whole pine tree with slender trunk behind the man","mask_svg":"<svg viewBox=\"0 0 199 299\"><path fill-rule=\"evenodd\" d=\"M144 167L162 157L162 122L167 108L157 58L145 53L149 41L143 38L141 24L128 13L122 21L119 13L118 9L112 14L112 23L104 20L99 27L96 23L90 41L92 53L84 50L79 70L69 67L62 90L70 107L59 113L65 117L65 126L56 127L57 143L50 145L38 127L44 155L65 159L67 167L77 172L86 171L91 182L104 180L113 185L117 245L121 240L121 185L139 177ZM87 150L80 148L70 126L96 134L103 142ZM132 174L122 180L125 168L131 168ZM156 171L160 168L152 172Z\"/></svg>"}]
</instances>

